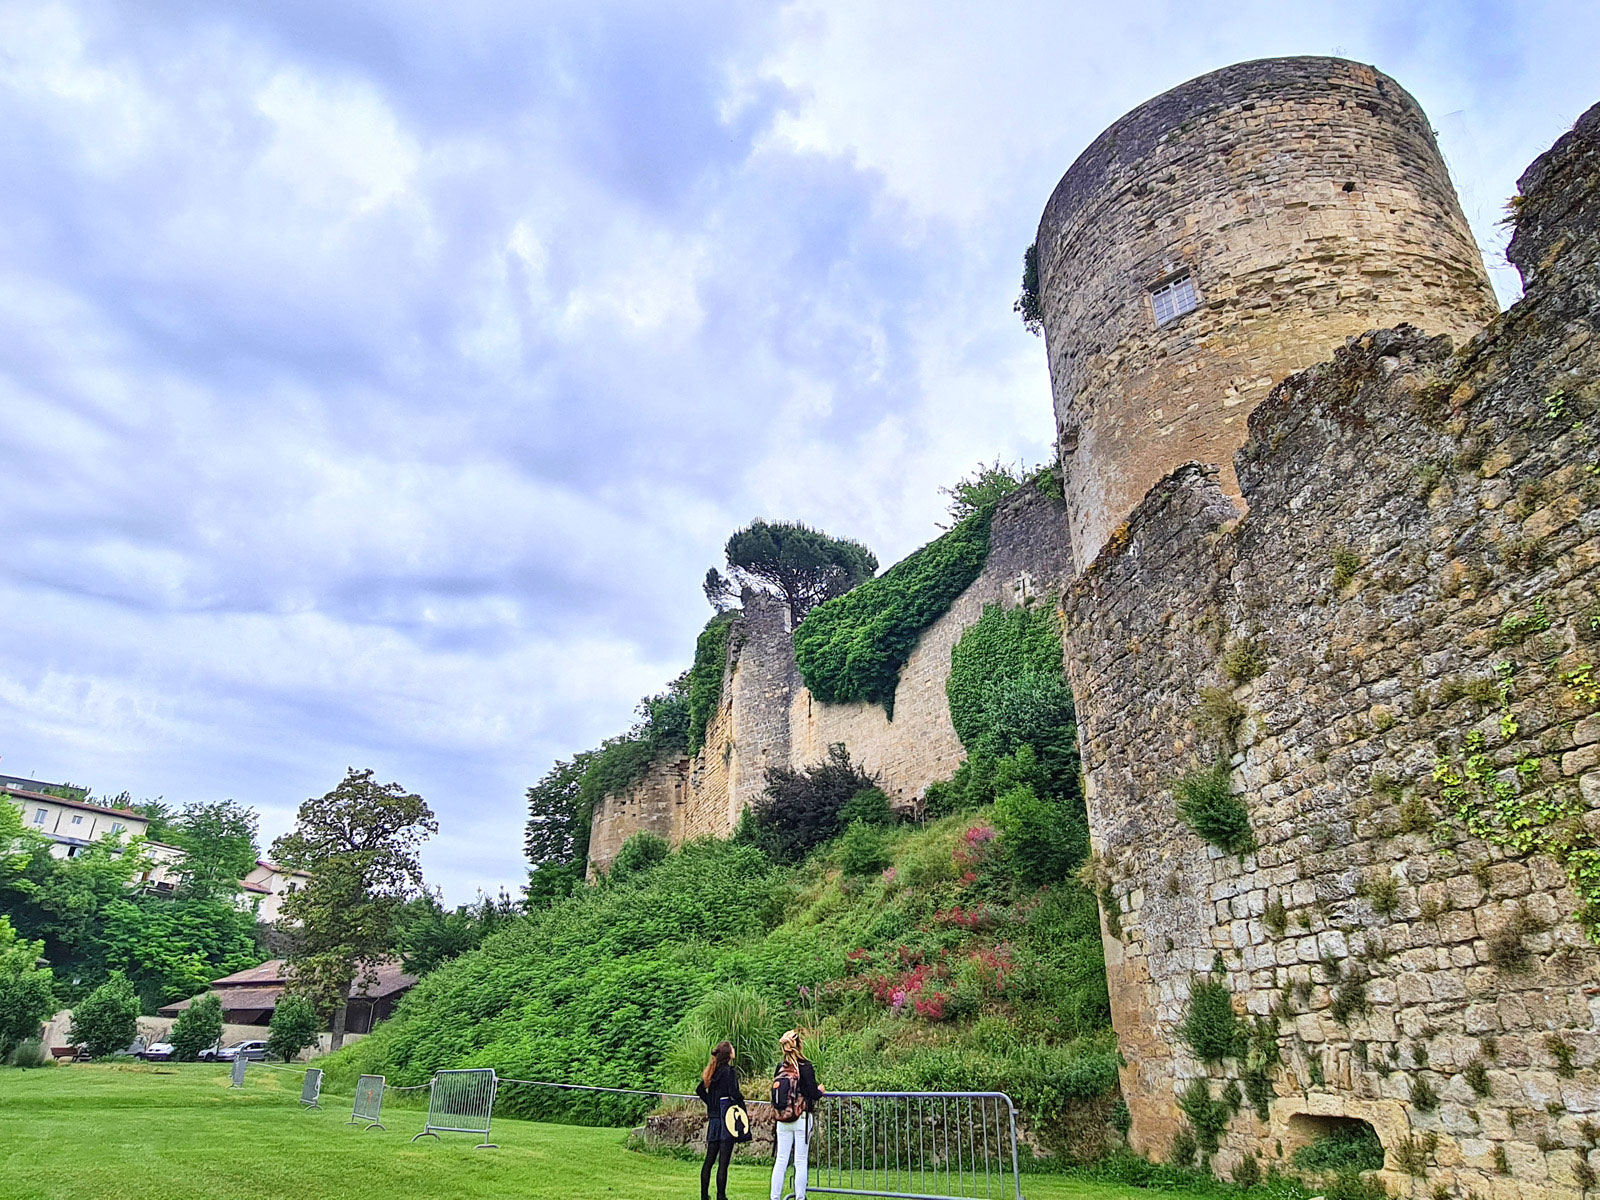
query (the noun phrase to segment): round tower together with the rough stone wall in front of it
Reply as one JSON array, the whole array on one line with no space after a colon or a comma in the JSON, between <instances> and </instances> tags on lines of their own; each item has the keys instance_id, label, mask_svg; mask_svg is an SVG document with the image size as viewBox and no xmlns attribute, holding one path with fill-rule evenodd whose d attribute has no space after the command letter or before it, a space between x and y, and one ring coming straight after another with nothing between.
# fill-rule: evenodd
<instances>
[{"instance_id":1,"label":"round tower together with the rough stone wall in front of it","mask_svg":"<svg viewBox=\"0 0 1600 1200\"><path fill-rule=\"evenodd\" d=\"M1496 315L1410 96L1286 59L1134 110L1045 213L1066 658L1152 1157L1366 1125L1398 1195L1600 1171L1600 106L1520 192ZM1186 1038L1202 982L1221 1054Z\"/></svg>"}]
</instances>

